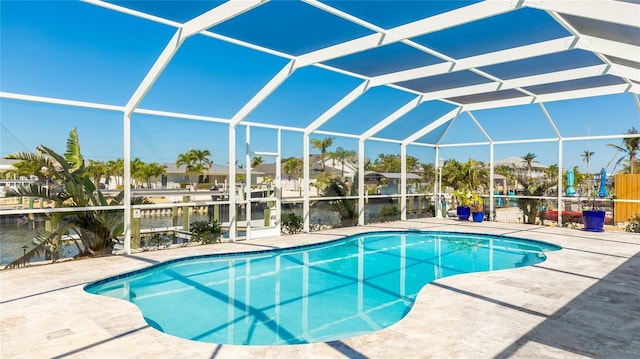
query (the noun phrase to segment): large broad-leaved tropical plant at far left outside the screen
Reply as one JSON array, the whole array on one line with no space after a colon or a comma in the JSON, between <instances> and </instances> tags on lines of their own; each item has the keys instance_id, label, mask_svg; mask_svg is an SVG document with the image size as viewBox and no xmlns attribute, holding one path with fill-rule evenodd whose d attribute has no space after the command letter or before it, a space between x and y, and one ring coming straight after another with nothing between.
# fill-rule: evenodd
<instances>
[{"instance_id":1,"label":"large broad-leaved tropical plant at far left outside the screen","mask_svg":"<svg viewBox=\"0 0 640 359\"><path fill-rule=\"evenodd\" d=\"M59 248L62 236L71 232L77 234L77 239L72 239L72 242L78 250L78 256L111 254L117 237L124 230L122 211L87 210L85 207L121 205L124 193L120 192L116 197L107 199L96 188L85 171L84 158L80 152L75 128L69 133L67 148L63 155L40 145L36 153L17 152L6 158L37 163L40 167L46 167L50 171L52 180L56 182L55 189L31 183L28 186L10 190L7 193L8 196L46 199L52 201L55 208L83 208L71 212L50 213L48 216L54 228L53 231L36 235L36 246L10 263L8 268L26 264L33 257L44 254L50 247Z\"/></svg>"}]
</instances>

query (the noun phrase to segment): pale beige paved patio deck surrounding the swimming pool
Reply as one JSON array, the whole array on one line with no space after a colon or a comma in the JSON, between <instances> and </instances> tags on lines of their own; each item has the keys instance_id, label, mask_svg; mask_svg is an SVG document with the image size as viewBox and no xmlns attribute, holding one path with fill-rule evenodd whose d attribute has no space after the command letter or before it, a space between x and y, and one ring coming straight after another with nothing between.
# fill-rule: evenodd
<instances>
[{"instance_id":1,"label":"pale beige paved patio deck surrounding the swimming pool","mask_svg":"<svg viewBox=\"0 0 640 359\"><path fill-rule=\"evenodd\" d=\"M83 286L171 258L286 247L391 228L504 234L558 244L531 267L447 277L384 330L329 343L234 346L150 327L131 303ZM420 219L0 272L2 358L638 358L640 235Z\"/></svg>"}]
</instances>

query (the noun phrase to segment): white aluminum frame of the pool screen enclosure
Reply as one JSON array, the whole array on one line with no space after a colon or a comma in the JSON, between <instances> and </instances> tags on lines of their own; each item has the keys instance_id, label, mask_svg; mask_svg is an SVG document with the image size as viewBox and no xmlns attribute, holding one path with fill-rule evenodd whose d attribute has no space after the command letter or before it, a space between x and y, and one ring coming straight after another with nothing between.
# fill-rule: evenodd
<instances>
[{"instance_id":1,"label":"white aluminum frame of the pool screen enclosure","mask_svg":"<svg viewBox=\"0 0 640 359\"><path fill-rule=\"evenodd\" d=\"M566 99L574 99L574 98L583 98L583 97L591 97L591 96L601 96L601 95L609 95L609 94L620 94L620 93L633 93L634 101L636 106L640 110L640 101L638 99L638 93L640 93L640 70L630 67L628 65L621 65L612 63L608 60L607 57L617 57L623 60L627 60L630 63L640 63L640 46L628 44L622 41L615 41L612 39L603 39L594 36L588 36L581 34L575 28L573 28L568 21L563 18L563 14L569 14L573 16L595 19L598 21L615 23L623 26L632 27L634 29L640 28L640 5L621 2L621 1L612 1L612 0L595 0L595 1L540 1L540 0L524 0L524 1L502 1L502 0L487 0L479 3L475 3L472 5L468 5L462 8L458 8L443 14L438 14L435 16L431 16L425 19L420 19L411 23L403 24L400 26L396 26L390 29L382 29L376 25L370 24L356 16L348 14L344 11L335 9L325 3L316 1L316 0L304 0L305 3L316 7L322 11L326 11L335 16L339 16L347 21L351 21L359 26L366 27L374 31L374 34L363 36L360 38L356 38L353 40L345 41L336 45L328 46L323 49L312 51L306 54L302 54L300 56L294 56L286 53L282 53L277 50L265 48L263 46L259 46L256 44L247 43L242 40L233 39L227 36L216 34L215 32L209 31L207 29L212 28L214 25L219 24L221 22L232 19L236 16L239 16L247 11L251 11L252 9L263 5L266 1L264 0L243 0L243 1L228 1L225 2L216 8L209 10L190 21L187 21L183 24L176 23L175 21L171 21L168 19L163 19L151 14L145 14L140 11L135 11L132 9L128 9L124 6L114 5L98 0L84 0L88 4L92 4L95 6L102 7L109 11L118 11L125 13L129 16L136 16L139 18L146 19L148 21L153 21L157 23L162 23L167 26L172 26L176 28L175 33L168 40L165 48L162 50L158 58L156 59L153 66L147 72L145 78L140 82L139 86L129 98L127 103L124 106L118 105L110 105L110 104L99 104L99 103L90 103L83 101L76 101L71 99L59 99L59 98L48 98L41 97L32 94L17 94L12 92L0 92L0 98L5 99L13 99L27 102L41 102L41 103L50 103L56 105L63 106L74 106L74 107L82 107L82 108L94 108L106 111L116 111L120 112L123 115L123 139L124 139L124 162L125 162L125 173L124 173L124 183L129 183L131 179L130 173L130 161L131 161L131 148L130 148L130 140L131 140L131 127L130 121L131 116L134 113L146 113L152 115L161 115L161 116L170 116L175 118L182 118L187 120L203 120L203 121L213 121L228 124L229 129L229 186L230 186L230 196L229 196L229 219L230 219L230 241L235 241L236 239L236 229L237 229L237 216L236 216L236 128L238 125L246 125L246 146L247 146L247 155L246 160L250 158L249 154L249 146L250 146L250 127L265 127L265 128L275 128L278 130L278 163L276 166L277 171L277 188L278 191L281 189L281 168L280 168L280 153L281 153L281 131L299 131L303 133L303 161L304 161L304 198L303 198L303 211L304 211L304 231L309 231L309 206L310 206L310 198L309 198L309 137L313 134L325 134L325 135L337 135L344 137L351 137L358 139L358 170L361 174L364 174L364 149L367 140L379 140L379 141L388 141L393 143L400 144L401 149L401 160L402 160L402 189L400 193L400 200L402 201L402 214L401 219L406 219L406 150L408 145L420 145L420 146L429 146L435 148L435 161L438 163L439 160L439 152L441 147L452 147L452 146L468 146L474 144L442 144L442 139L446 136L448 130L451 128L451 125L455 122L458 115L461 112L466 112L469 114L472 121L476 124L476 126L480 129L483 135L487 138L487 143L478 143L482 145L489 146L490 153L490 203L491 203L491 213L493 213L493 170L494 170L494 147L499 144L507 144L507 143L531 143L531 142L549 142L549 141L557 141L558 142L558 196L557 201L560 204L563 200L561 188L562 188L562 157L563 157L563 143L566 141L577 141L584 139L612 139L612 138L623 138L628 137L624 135L616 135L616 136L587 136L587 137L563 137L557 126L555 125L553 119L546 111L544 103L551 101L561 101ZM519 46L514 48L509 48L501 51L489 52L477 56L471 56L468 58L454 59L450 58L446 55L440 54L437 51L427 48L425 46L419 45L413 42L411 39L420 35L440 31L443 29L467 24L479 19L496 16L500 14L504 14L510 11L516 11L523 7L529 7L534 9L539 9L541 11L546 11L553 19L555 19L561 26L563 26L571 35L542 41L530 45ZM216 38L221 41L227 41L239 46L244 46L246 48L261 51L265 53L269 53L271 55L279 56L288 60L288 63L277 73L275 73L272 79L262 87L248 102L245 103L244 106L230 119L220 119L220 118L212 118L207 116L200 116L194 114L180 114L180 113L169 113L164 111L156 111L149 109L141 109L139 108L140 103L144 99L147 92L152 88L155 84L156 80L164 71L165 67L171 62L174 55L179 51L181 45L187 41L190 37L202 34L204 36L209 36L212 38ZM374 77L366 77L358 74L350 73L349 71L336 69L323 62L343 56L347 56L350 54L355 54L358 52L374 49L376 47L402 42L409 46L412 46L420 51L424 51L430 55L439 57L443 60L442 63L438 63L435 65L422 66L413 69L408 69L404 71L398 71L394 73L374 76ZM558 53L562 51L568 51L572 49L582 49L586 51L593 52L596 56L598 56L601 60L603 60L603 65L595 65L595 66L586 66L582 68L573 68L562 71L555 71L545 74L538 74L533 76L525 76L520 78L513 78L509 80L504 80L497 78L495 76L484 73L478 68L495 65L499 63L505 63L508 61L522 60L535 56L547 55ZM362 80L362 83L354 88L351 92L346 94L342 99L336 102L332 107L327 109L320 117L312 121L310 124L306 126L290 127L290 126L277 126L271 124L263 124L263 123L255 123L245 121L247 116L255 110L264 100L266 100L282 83L284 83L297 69L306 67L306 66L317 66L323 68L325 70L338 72L341 74L353 76ZM414 90L402 88L397 85L402 81L414 80L419 78L424 78L428 76L442 75L448 74L456 71L464 71L469 70L474 73L486 77L489 82L483 83L480 85L473 86L461 86L455 87L445 90L438 90L432 92L419 93ZM624 84L619 85L608 85L608 86L595 86L591 88L572 90L572 91L562 91L556 93L547 93L547 94L533 94L530 93L524 88L535 86L535 85L543 85L547 83L554 83L559 81L570 81L577 80L583 78L590 78L602 75L612 75L620 77ZM360 96L365 94L370 88L376 86L389 86L394 89L399 89L411 94L414 94L415 97L398 108L395 112L393 112L388 117L384 118L380 122L371 126L365 132L359 135L353 134L345 134L345 133L333 133L327 131L319 130L320 127L337 115L340 111L345 109L348 105L353 103ZM457 98L460 96L481 94L492 91L513 89L522 93L522 97L511 98L511 99L503 99L503 100L495 100L488 102L477 102L477 103L456 103L453 102L452 98ZM455 108L449 111L447 114L431 121L425 123L425 126L412 133L408 134L404 139L401 140L393 140L393 139L384 139L384 138L375 138L373 137L376 133L379 133L382 129L394 123L398 119L402 118L407 113L411 112L415 108L417 108L420 104L425 101L431 100L440 100L452 103L455 105ZM549 139L533 139L533 140L517 140L517 141L494 141L491 136L482 128L480 123L475 119L472 114L472 111L481 110L481 109L491 109L491 108L499 108L505 106L515 106L515 105L524 105L524 104L539 104L541 110L543 111L545 117L547 118L550 126L555 132L555 138ZM439 128L442 125L447 125L447 129L444 134L440 137L440 139L434 144L421 143L418 140ZM249 181L251 178L251 169L250 166L247 166L247 180ZM436 166L437 167L437 166ZM438 181L436 181L438 182ZM130 239L131 239L131 228L130 228L130 213L132 210L131 202L131 189L129 186L124 186L125 188L125 204L124 204L124 222L125 222L125 254L130 254ZM358 180L358 204L359 204L359 223L364 223L364 175L359 176ZM440 189L434 188L434 193L439 195ZM281 203L281 193L277 194L277 203L278 206ZM437 198L437 197L436 197ZM560 207L560 206L559 206ZM560 209L561 210L561 209ZM250 214L248 214L248 220L250 220ZM561 216L558 216L558 221L561 221ZM279 222L279 221L278 221ZM250 239L250 228L247 231L247 237Z\"/></svg>"}]
</instances>

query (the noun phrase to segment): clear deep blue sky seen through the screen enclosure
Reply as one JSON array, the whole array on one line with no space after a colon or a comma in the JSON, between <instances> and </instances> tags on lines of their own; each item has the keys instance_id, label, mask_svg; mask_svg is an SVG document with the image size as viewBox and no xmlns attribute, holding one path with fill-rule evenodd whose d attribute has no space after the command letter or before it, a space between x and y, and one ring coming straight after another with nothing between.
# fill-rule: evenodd
<instances>
[{"instance_id":1,"label":"clear deep blue sky seen through the screen enclosure","mask_svg":"<svg viewBox=\"0 0 640 359\"><path fill-rule=\"evenodd\" d=\"M396 26L412 16L424 16L438 10L423 5L418 10L398 8L393 16L381 16L384 10L376 10L375 6L362 7L357 2L330 3L337 7L343 6L346 10L360 11L363 18L386 27ZM206 6L203 2L190 4L193 7ZM436 4L440 7L454 6L444 2ZM266 14L269 11L280 14L278 7L281 5L264 5L264 8L260 7L258 10ZM9 93L122 106L134 93L175 31L166 25L74 1L2 0L0 6L0 89ZM137 3L137 6L144 4ZM202 9L185 7L184 13L168 12L166 16L183 21L191 16L188 10ZM308 12L314 16L317 12L303 4L291 11L300 16ZM260 22L257 17L259 15L264 14L256 12L256 18L239 18L213 30L245 37L293 54L326 46L328 39L323 36L348 39L370 33L353 24L336 22L332 27L333 32L320 36L317 31L314 32L314 22L334 20L319 16L310 20L309 24L304 21L287 23L289 26L296 26L298 30L291 31L276 28L276 24ZM483 42L488 33L495 32L495 29L514 26L523 21L530 25L528 29L536 29L538 37L535 41L565 35L565 30L556 25L540 25L548 21L546 15L526 10L502 16L489 24L483 22L482 31L479 30L480 24L469 24L415 40L452 56L470 56L479 53L478 47L484 46L484 51L494 51L513 46L514 41L522 41L524 33L523 36L511 37L500 33L491 44ZM524 31L523 28L527 27L517 27L520 29L518 31ZM468 32L476 37L465 40L471 43L448 45L452 38L459 38L461 34ZM279 35L267 36L269 34ZM405 51L406 48L396 45L359 56L380 58L380 66L394 68L398 64L389 59L393 59L393 54L401 56ZM594 61L584 54L573 54L572 58L585 65ZM433 60L425 56L420 61L431 63ZM196 35L180 48L140 107L229 119L287 62L287 59L275 55ZM342 59L339 64L355 66L353 59L349 58ZM516 73L523 76L526 75L522 74L523 69L531 71L534 67L535 64L528 63L500 70L505 77ZM375 72L381 68L372 66L366 70ZM458 80L476 81L472 76ZM246 120L303 128L361 82L360 79L318 67L303 68L296 71ZM360 134L414 96L390 87L373 88L321 129ZM586 136L588 133L618 135L632 126L640 129L640 115L631 94L549 102L545 106L563 136ZM428 121L452 108L452 105L439 101L424 103L376 136L403 139L407 133L419 130ZM473 115L496 141L554 137L554 132L538 105L474 111ZM2 156L15 151L32 151L39 144L62 152L69 131L77 127L85 157L96 160L123 157L123 119L119 112L0 99L0 122ZM132 157L140 157L148 162L174 162L178 153L185 152L190 147L209 149L215 163L223 164L228 160L228 129L224 124L136 114L132 118L131 130ZM432 142L443 130L444 127L422 140ZM252 128L251 131L254 150L276 150L275 130ZM237 158L240 163L244 162L244 137L245 128L239 126ZM463 113L451 126L443 143L476 141L485 141L484 136L471 118ZM591 169L595 172L605 167L615 154L606 144L620 142L618 139L565 142L563 162L565 166L579 165L581 170L586 170L586 163L582 161L580 154L589 148L595 152L591 162ZM301 145L300 133L283 132L283 157L301 156ZM357 140L336 138L332 149L337 146L357 150ZM523 156L532 152L540 162L548 165L558 163L557 146L557 142L499 145L496 146L495 158ZM379 153L400 153L400 146L392 143L367 142L365 148L366 156L372 159ZM432 162L434 157L431 148L421 146L411 146L408 153L423 162ZM447 147L441 151L441 155L462 161L470 157L489 160L487 146Z\"/></svg>"}]
</instances>

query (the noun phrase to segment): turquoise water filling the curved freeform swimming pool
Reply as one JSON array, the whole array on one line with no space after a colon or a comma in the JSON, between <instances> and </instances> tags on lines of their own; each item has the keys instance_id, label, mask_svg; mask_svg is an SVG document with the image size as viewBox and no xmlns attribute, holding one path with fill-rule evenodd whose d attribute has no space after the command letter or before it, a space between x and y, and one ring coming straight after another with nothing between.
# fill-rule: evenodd
<instances>
[{"instance_id":1,"label":"turquoise water filling the curved freeform swimming pool","mask_svg":"<svg viewBox=\"0 0 640 359\"><path fill-rule=\"evenodd\" d=\"M128 300L152 327L190 340L323 342L396 323L438 278L534 265L558 249L502 236L373 232L257 254L181 258L85 290Z\"/></svg>"}]
</instances>

